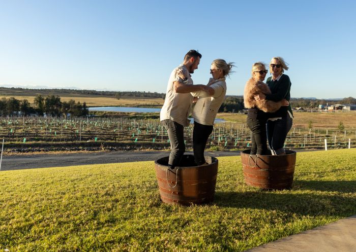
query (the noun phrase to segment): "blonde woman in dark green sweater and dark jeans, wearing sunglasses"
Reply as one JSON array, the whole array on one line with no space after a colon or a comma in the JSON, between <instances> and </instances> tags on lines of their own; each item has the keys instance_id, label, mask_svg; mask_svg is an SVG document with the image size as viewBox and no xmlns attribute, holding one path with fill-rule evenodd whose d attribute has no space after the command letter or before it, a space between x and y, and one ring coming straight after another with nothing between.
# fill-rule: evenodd
<instances>
[{"instance_id":1,"label":"blonde woman in dark green sweater and dark jeans, wearing sunglasses","mask_svg":"<svg viewBox=\"0 0 356 252\"><path fill-rule=\"evenodd\" d=\"M270 63L272 77L268 78L266 83L271 89L272 94L259 94L255 96L256 100L280 101L282 99L290 100L291 82L284 70L288 66L282 57L274 57ZM293 123L293 113L290 105L282 106L277 112L266 115L267 138L272 155L283 155L284 141Z\"/></svg>"}]
</instances>

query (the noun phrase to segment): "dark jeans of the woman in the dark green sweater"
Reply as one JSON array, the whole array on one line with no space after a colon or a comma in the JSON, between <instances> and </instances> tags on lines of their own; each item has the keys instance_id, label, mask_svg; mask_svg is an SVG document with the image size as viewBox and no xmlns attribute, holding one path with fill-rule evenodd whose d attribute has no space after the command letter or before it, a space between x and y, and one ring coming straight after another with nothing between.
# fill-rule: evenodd
<instances>
[{"instance_id":1,"label":"dark jeans of the woman in the dark green sweater","mask_svg":"<svg viewBox=\"0 0 356 252\"><path fill-rule=\"evenodd\" d=\"M284 141L292 124L293 120L289 115L276 121L267 121L267 138L272 154L280 155L285 152L283 148Z\"/></svg>"}]
</instances>

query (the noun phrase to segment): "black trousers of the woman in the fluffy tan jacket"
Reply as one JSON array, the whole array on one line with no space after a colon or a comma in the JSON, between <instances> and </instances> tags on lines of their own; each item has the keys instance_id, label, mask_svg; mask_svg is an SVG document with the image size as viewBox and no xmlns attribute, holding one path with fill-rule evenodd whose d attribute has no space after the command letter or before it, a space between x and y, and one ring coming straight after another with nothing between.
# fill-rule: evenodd
<instances>
[{"instance_id":1,"label":"black trousers of the woman in the fluffy tan jacket","mask_svg":"<svg viewBox=\"0 0 356 252\"><path fill-rule=\"evenodd\" d=\"M252 131L250 154L267 155L266 119L247 118L247 126Z\"/></svg>"}]
</instances>

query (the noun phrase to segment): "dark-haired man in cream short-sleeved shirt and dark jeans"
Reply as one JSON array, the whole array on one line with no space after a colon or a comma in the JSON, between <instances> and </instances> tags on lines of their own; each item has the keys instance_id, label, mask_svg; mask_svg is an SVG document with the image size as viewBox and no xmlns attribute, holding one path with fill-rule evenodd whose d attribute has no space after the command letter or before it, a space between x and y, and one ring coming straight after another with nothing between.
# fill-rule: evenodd
<instances>
[{"instance_id":1,"label":"dark-haired man in cream short-sleeved shirt and dark jeans","mask_svg":"<svg viewBox=\"0 0 356 252\"><path fill-rule=\"evenodd\" d=\"M191 75L201 59L201 54L190 50L184 57L183 64L174 68L168 81L166 98L161 109L160 121L167 129L170 141L168 166L174 169L179 166L186 150L184 143L184 127L189 126L188 116L193 96L190 92L205 91L213 94L214 90L205 85L193 85Z\"/></svg>"}]
</instances>

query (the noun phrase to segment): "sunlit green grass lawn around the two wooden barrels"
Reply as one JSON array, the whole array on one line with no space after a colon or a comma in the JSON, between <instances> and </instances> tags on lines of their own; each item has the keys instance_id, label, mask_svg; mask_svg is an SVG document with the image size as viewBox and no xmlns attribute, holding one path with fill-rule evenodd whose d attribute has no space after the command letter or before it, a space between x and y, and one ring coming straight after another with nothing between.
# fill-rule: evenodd
<instances>
[{"instance_id":1,"label":"sunlit green grass lawn around the two wooden barrels","mask_svg":"<svg viewBox=\"0 0 356 252\"><path fill-rule=\"evenodd\" d=\"M160 201L154 162L0 172L0 251L241 251L356 214L356 149L298 153L291 191L219 158L215 200Z\"/></svg>"}]
</instances>

